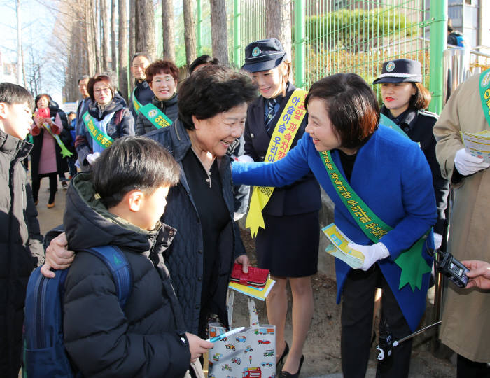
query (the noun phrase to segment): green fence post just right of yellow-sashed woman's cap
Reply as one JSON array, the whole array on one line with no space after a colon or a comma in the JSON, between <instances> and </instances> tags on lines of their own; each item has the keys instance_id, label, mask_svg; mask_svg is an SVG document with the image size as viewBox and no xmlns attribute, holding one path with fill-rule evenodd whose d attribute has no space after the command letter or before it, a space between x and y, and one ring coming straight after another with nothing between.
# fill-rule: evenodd
<instances>
[{"instance_id":1,"label":"green fence post just right of yellow-sashed woman's cap","mask_svg":"<svg viewBox=\"0 0 490 378\"><path fill-rule=\"evenodd\" d=\"M294 0L294 80L295 86L304 87L305 60L304 0Z\"/></svg>"}]
</instances>

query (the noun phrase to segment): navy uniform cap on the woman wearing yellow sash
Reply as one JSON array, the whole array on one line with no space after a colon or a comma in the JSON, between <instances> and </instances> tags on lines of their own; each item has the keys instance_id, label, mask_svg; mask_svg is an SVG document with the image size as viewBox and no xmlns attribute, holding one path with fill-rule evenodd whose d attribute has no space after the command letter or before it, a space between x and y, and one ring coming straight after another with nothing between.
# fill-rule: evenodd
<instances>
[{"instance_id":1,"label":"navy uniform cap on the woman wearing yellow sash","mask_svg":"<svg viewBox=\"0 0 490 378\"><path fill-rule=\"evenodd\" d=\"M241 66L249 72L268 71L279 66L286 59L286 51L276 38L262 39L248 44L245 48L245 64Z\"/></svg>"}]
</instances>

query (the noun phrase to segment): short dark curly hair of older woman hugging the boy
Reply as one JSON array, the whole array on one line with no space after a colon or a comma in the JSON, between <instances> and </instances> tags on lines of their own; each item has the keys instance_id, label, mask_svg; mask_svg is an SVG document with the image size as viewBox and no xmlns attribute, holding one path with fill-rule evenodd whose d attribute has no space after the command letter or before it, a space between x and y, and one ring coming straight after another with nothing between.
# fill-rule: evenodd
<instances>
[{"instance_id":1,"label":"short dark curly hair of older woman hugging the boy","mask_svg":"<svg viewBox=\"0 0 490 378\"><path fill-rule=\"evenodd\" d=\"M179 119L194 130L193 116L205 120L258 97L245 71L228 66L204 66L189 76L179 90Z\"/></svg>"}]
</instances>

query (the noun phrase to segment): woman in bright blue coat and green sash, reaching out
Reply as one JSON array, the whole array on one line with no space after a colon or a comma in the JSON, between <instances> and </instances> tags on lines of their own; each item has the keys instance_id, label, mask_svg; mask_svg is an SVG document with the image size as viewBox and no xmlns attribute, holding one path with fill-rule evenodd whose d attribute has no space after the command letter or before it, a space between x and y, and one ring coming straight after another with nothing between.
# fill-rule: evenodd
<instances>
[{"instance_id":1,"label":"woman in bright blue coat and green sash, reaching out","mask_svg":"<svg viewBox=\"0 0 490 378\"><path fill-rule=\"evenodd\" d=\"M429 231L437 218L432 176L416 143L379 125L376 96L360 76L319 80L306 104L308 125L297 146L273 164L233 163L233 180L280 187L311 169L335 202L337 228L351 239L349 248L364 255L360 269L335 259L337 302L343 300L342 370L344 377L364 377L377 286L393 339L415 330L423 315L431 264L426 246L433 244ZM393 349L378 366L380 376L407 377L411 346Z\"/></svg>"}]
</instances>

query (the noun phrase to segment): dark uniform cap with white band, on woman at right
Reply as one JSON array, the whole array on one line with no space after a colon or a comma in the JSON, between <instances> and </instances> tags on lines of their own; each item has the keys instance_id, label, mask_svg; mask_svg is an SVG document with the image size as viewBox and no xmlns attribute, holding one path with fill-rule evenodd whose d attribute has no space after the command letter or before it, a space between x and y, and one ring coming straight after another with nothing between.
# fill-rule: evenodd
<instances>
[{"instance_id":1,"label":"dark uniform cap with white band, on woman at right","mask_svg":"<svg viewBox=\"0 0 490 378\"><path fill-rule=\"evenodd\" d=\"M394 59L383 63L379 78L373 84L379 83L421 83L421 64L412 59Z\"/></svg>"}]
</instances>

